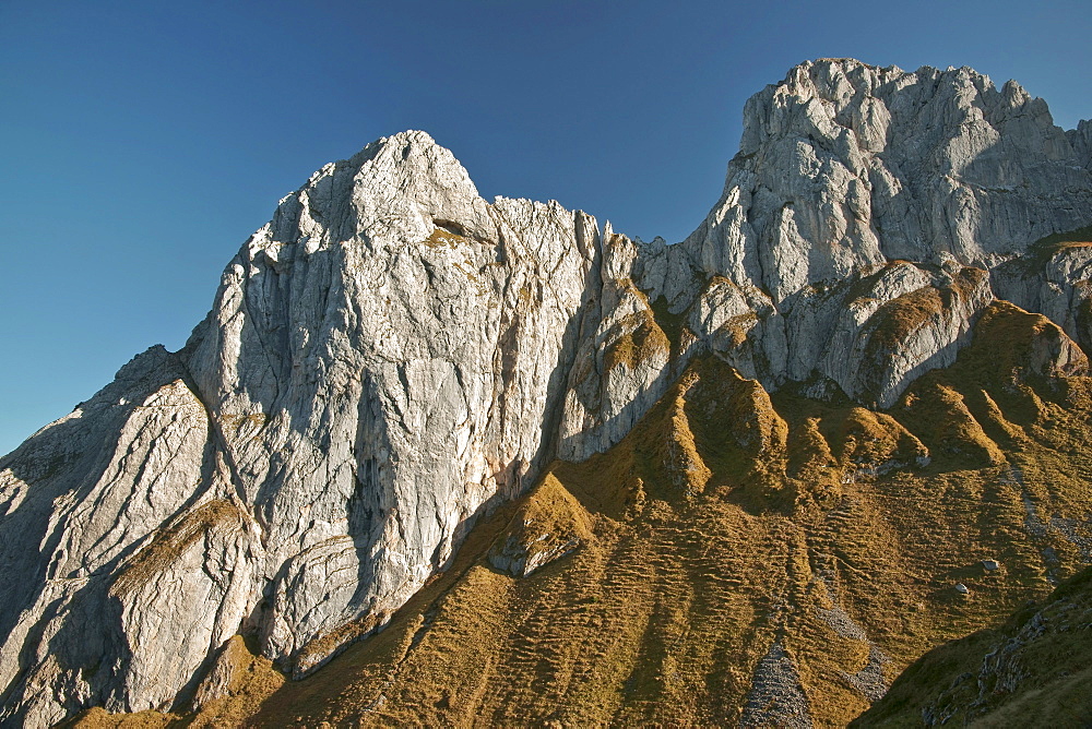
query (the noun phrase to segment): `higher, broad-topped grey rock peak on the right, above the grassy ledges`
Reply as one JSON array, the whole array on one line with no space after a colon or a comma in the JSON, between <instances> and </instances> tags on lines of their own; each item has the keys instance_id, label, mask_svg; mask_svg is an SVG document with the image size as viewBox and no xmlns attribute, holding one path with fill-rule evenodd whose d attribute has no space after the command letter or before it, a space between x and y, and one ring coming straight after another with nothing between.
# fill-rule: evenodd
<instances>
[{"instance_id":1,"label":"higher, broad-topped grey rock peak on the right, above the grassy ledges","mask_svg":"<svg viewBox=\"0 0 1092 729\"><path fill-rule=\"evenodd\" d=\"M821 59L748 99L722 199L688 242L783 301L897 259L992 267L1084 225L1090 188L1084 136L1014 82Z\"/></svg>"}]
</instances>

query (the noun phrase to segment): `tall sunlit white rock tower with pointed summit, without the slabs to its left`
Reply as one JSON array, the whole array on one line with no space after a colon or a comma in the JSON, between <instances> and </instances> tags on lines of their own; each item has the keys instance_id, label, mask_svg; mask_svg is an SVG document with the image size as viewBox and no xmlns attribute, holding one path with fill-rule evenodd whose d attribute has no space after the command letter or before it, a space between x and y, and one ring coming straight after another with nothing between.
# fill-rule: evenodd
<instances>
[{"instance_id":1,"label":"tall sunlit white rock tower with pointed summit, without the slabs to its left","mask_svg":"<svg viewBox=\"0 0 1092 729\"><path fill-rule=\"evenodd\" d=\"M327 166L251 238L183 356L269 545L269 656L382 621L521 490L597 255L592 218L490 206L422 133Z\"/></svg>"}]
</instances>

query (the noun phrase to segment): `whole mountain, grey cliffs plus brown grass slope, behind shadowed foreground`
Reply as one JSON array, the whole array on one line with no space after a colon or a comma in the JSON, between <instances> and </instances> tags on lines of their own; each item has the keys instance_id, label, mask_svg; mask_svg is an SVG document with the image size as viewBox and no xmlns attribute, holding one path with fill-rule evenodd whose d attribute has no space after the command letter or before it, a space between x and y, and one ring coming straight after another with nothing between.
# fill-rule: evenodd
<instances>
[{"instance_id":1,"label":"whole mountain, grey cliffs plus brown grass slope, behind shadowed foreground","mask_svg":"<svg viewBox=\"0 0 1092 729\"><path fill-rule=\"evenodd\" d=\"M373 142L0 459L0 722L844 725L1092 560L1090 226L965 68L793 69L675 244Z\"/></svg>"}]
</instances>

